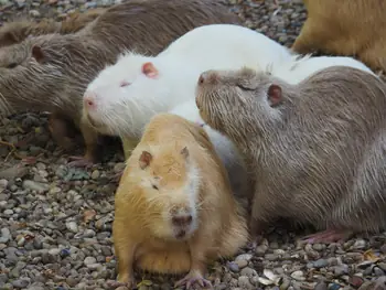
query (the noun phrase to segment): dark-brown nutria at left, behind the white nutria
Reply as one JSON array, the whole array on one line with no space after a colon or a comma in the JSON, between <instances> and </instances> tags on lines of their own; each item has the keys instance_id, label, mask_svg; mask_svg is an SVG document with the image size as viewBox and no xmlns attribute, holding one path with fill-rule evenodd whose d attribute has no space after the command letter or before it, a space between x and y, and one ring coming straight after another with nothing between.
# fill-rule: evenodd
<instances>
[{"instance_id":1,"label":"dark-brown nutria at left, behind the white nutria","mask_svg":"<svg viewBox=\"0 0 386 290\"><path fill-rule=\"evenodd\" d=\"M238 23L219 0L132 0L116 4L83 30L29 37L0 50L0 111L44 110L81 129L96 159L97 132L82 120L88 83L126 50L158 54L195 26ZM74 163L74 164L75 164Z\"/></svg>"}]
</instances>

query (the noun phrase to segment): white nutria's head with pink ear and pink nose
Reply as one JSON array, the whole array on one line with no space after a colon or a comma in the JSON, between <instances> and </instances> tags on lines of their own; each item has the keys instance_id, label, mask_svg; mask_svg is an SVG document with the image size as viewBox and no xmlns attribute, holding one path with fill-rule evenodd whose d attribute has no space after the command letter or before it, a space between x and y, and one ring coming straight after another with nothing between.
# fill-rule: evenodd
<instances>
[{"instance_id":1,"label":"white nutria's head with pink ear and pink nose","mask_svg":"<svg viewBox=\"0 0 386 290\"><path fill-rule=\"evenodd\" d=\"M101 133L140 138L154 114L170 109L169 99L175 95L171 82L184 85L175 78L162 60L126 52L89 83L84 116Z\"/></svg>"}]
</instances>

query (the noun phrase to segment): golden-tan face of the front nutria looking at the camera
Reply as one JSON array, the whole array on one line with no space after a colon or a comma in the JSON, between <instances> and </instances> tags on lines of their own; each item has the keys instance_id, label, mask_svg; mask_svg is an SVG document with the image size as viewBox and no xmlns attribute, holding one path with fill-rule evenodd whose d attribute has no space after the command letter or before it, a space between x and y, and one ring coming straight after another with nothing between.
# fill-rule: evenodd
<instances>
[{"instance_id":1,"label":"golden-tan face of the front nutria looking at the camera","mask_svg":"<svg viewBox=\"0 0 386 290\"><path fill-rule=\"evenodd\" d=\"M189 151L181 144L149 146L132 155L131 181L148 229L162 239L189 239L199 226L200 178Z\"/></svg>"}]
</instances>

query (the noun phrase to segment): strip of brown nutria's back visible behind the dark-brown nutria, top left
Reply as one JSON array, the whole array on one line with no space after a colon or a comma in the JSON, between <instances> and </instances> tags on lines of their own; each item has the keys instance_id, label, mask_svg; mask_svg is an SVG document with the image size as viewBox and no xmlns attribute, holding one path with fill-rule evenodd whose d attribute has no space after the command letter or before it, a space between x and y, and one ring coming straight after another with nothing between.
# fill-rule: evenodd
<instances>
[{"instance_id":1,"label":"strip of brown nutria's back visible behind the dark-brown nutria, top left","mask_svg":"<svg viewBox=\"0 0 386 290\"><path fill-rule=\"evenodd\" d=\"M20 43L28 36L37 36L50 33L67 34L85 28L89 22L105 12L107 8L89 9L85 12L76 11L67 15L63 21L42 19L34 21L23 17L11 22L6 22L0 28L0 47Z\"/></svg>"}]
</instances>

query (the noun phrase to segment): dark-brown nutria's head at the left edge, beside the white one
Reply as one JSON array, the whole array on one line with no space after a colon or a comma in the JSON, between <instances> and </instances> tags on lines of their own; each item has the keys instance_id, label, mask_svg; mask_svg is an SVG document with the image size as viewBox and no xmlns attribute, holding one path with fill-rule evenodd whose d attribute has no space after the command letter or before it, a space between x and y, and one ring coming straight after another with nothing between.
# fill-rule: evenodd
<instances>
[{"instance_id":1,"label":"dark-brown nutria's head at the left edge, beside the white one","mask_svg":"<svg viewBox=\"0 0 386 290\"><path fill-rule=\"evenodd\" d=\"M78 117L74 115L81 114L83 92L105 64L90 63L97 45L77 37L47 34L2 47L0 112L37 109Z\"/></svg>"}]
</instances>

